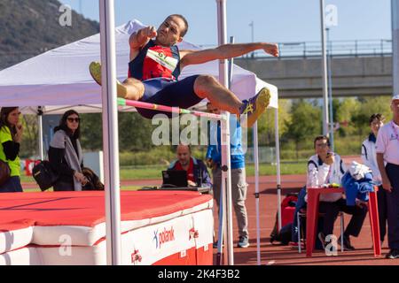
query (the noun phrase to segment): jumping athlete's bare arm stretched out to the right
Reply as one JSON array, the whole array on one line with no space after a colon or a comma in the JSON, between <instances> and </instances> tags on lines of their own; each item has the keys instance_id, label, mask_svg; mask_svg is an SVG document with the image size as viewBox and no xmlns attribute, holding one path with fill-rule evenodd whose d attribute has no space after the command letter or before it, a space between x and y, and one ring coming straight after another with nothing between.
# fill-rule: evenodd
<instances>
[{"instance_id":1,"label":"jumping athlete's bare arm stretched out to the right","mask_svg":"<svg viewBox=\"0 0 399 283\"><path fill-rule=\"evenodd\" d=\"M254 50L264 50L266 53L278 57L278 45L267 42L224 44L210 50L181 50L180 65L196 65L216 59L230 59L239 57Z\"/></svg>"}]
</instances>

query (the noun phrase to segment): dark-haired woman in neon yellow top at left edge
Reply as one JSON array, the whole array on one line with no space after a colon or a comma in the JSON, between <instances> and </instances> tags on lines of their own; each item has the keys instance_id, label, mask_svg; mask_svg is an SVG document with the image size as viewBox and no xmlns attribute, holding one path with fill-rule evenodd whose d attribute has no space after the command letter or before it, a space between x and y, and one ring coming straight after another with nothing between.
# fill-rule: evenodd
<instances>
[{"instance_id":1,"label":"dark-haired woman in neon yellow top at left edge","mask_svg":"<svg viewBox=\"0 0 399 283\"><path fill-rule=\"evenodd\" d=\"M0 193L22 192L19 157L22 132L20 109L18 107L2 107L0 111L0 159L9 165L11 178L0 186Z\"/></svg>"}]
</instances>

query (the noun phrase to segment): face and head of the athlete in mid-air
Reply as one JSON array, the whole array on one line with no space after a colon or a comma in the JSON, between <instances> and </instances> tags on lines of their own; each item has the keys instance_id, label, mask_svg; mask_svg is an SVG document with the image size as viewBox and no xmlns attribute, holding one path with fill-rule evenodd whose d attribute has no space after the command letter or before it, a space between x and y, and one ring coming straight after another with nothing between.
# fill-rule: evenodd
<instances>
[{"instance_id":1,"label":"face and head of the athlete in mid-air","mask_svg":"<svg viewBox=\"0 0 399 283\"><path fill-rule=\"evenodd\" d=\"M184 30L184 21L175 16L168 17L158 27L156 42L162 46L172 46L183 41L181 32Z\"/></svg>"}]
</instances>

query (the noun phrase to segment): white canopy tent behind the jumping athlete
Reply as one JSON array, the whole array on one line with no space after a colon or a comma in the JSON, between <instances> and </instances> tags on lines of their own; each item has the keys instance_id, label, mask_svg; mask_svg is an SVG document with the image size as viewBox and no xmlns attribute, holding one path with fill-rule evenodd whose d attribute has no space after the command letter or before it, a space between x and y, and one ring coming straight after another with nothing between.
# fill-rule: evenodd
<instances>
[{"instance_id":1,"label":"white canopy tent behind the jumping athlete","mask_svg":"<svg viewBox=\"0 0 399 283\"><path fill-rule=\"evenodd\" d=\"M124 80L127 76L129 34L132 34L141 27L145 27L145 25L134 19L115 29L116 76L119 80ZM179 43L179 48L199 49L199 47L190 42ZM88 70L91 61L100 61L100 34L66 44L39 56L32 57L18 65L4 69L0 71L0 105L2 107L20 106L23 113L40 115L46 113L59 114L70 108L74 108L74 110L79 112L101 112L103 110L102 105L105 102L102 101L100 87L91 79ZM184 68L181 78L199 73L211 74L219 78L219 62L212 61L207 64L188 66ZM270 107L276 109L276 128L278 131L278 89L256 78L254 73L246 71L237 65L233 66L231 90L240 99L254 96L258 90L265 86L270 88L271 91ZM120 111L135 111L135 109L126 106L123 108L120 107ZM257 127L254 127L254 134L254 141L257 141ZM278 132L276 134L276 144L278 157L278 203L280 203ZM257 152L257 143L254 146L255 152ZM105 154L107 150L105 148ZM43 152L43 145L41 151ZM108 154L111 153L108 152ZM256 155L256 193L258 193L259 188L259 167L257 162ZM119 168L109 169L115 175L119 175ZM257 223L259 223L258 202L259 198L257 195ZM279 227L281 227L281 220L279 220ZM258 264L260 264L259 225L257 238Z\"/></svg>"}]
</instances>

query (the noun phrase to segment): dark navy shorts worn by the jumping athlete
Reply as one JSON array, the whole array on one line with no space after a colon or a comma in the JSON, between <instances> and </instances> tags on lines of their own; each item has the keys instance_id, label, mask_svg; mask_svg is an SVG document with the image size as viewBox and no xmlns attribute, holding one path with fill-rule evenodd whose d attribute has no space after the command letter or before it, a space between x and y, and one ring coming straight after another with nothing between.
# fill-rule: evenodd
<instances>
[{"instance_id":1,"label":"dark navy shorts worn by the jumping athlete","mask_svg":"<svg viewBox=\"0 0 399 283\"><path fill-rule=\"evenodd\" d=\"M162 78L144 80L145 93L140 101L179 108L192 107L202 100L194 93L194 82L197 77L198 75L193 75L177 81ZM147 119L152 119L154 115L160 113L172 117L172 113L164 111L137 108L137 112Z\"/></svg>"}]
</instances>

